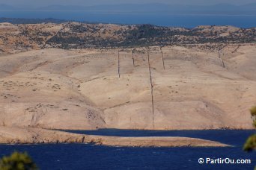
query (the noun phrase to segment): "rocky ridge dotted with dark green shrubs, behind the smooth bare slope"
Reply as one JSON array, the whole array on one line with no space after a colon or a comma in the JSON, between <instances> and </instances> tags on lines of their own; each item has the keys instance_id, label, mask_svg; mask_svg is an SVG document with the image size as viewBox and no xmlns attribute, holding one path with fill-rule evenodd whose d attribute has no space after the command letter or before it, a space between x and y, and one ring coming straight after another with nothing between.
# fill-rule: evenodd
<instances>
[{"instance_id":1,"label":"rocky ridge dotted with dark green shrubs, behind the smooth bare slope","mask_svg":"<svg viewBox=\"0 0 256 170\"><path fill-rule=\"evenodd\" d=\"M0 51L6 52L39 48L127 48L148 45L249 42L256 42L256 28L199 26L187 29L78 22L0 24Z\"/></svg>"}]
</instances>

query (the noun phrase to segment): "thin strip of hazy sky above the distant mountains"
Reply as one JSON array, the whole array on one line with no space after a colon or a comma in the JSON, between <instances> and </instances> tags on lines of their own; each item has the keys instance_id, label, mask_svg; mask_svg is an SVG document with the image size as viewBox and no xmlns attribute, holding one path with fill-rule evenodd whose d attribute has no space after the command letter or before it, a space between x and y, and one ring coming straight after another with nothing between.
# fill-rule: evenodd
<instances>
[{"instance_id":1,"label":"thin strip of hazy sky above the distant mountains","mask_svg":"<svg viewBox=\"0 0 256 170\"><path fill-rule=\"evenodd\" d=\"M0 0L0 4L10 4L13 6L31 6L41 7L52 4L63 4L63 5L82 5L90 6L95 4L144 4L144 3L165 3L165 4L250 4L255 3L255 0Z\"/></svg>"}]
</instances>

